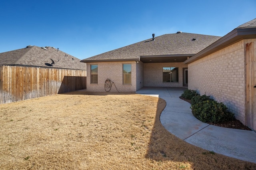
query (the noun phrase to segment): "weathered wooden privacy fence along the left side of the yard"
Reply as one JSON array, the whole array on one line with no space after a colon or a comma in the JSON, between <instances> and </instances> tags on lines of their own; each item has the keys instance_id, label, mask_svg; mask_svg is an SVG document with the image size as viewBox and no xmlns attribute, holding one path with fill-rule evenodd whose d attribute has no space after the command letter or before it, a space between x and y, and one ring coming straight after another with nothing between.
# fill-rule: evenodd
<instances>
[{"instance_id":1,"label":"weathered wooden privacy fence along the left side of the yard","mask_svg":"<svg viewBox=\"0 0 256 170\"><path fill-rule=\"evenodd\" d=\"M86 89L86 70L0 65L0 104Z\"/></svg>"}]
</instances>

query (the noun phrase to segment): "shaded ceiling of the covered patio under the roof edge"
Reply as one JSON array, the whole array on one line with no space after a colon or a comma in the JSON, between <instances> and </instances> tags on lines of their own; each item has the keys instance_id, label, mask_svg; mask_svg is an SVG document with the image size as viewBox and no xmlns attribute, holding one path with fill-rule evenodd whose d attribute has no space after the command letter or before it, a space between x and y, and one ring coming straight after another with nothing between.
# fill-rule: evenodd
<instances>
[{"instance_id":1,"label":"shaded ceiling of the covered patio under the roof edge","mask_svg":"<svg viewBox=\"0 0 256 170\"><path fill-rule=\"evenodd\" d=\"M186 61L188 57L194 54L184 55L145 55L140 56L140 61L143 63L180 63Z\"/></svg>"}]
</instances>

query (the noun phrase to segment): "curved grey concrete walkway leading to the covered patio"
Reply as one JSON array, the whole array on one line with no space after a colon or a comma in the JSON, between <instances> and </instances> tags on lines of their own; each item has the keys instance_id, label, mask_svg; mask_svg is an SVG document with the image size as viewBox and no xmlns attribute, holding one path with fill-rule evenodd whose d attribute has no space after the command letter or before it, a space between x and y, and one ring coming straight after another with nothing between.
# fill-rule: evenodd
<instances>
[{"instance_id":1,"label":"curved grey concrete walkway leading to the covered patio","mask_svg":"<svg viewBox=\"0 0 256 170\"><path fill-rule=\"evenodd\" d=\"M185 89L143 87L136 93L160 97L166 101L160 121L178 138L209 151L256 163L256 132L217 127L199 121L192 115L190 103L179 98Z\"/></svg>"}]
</instances>

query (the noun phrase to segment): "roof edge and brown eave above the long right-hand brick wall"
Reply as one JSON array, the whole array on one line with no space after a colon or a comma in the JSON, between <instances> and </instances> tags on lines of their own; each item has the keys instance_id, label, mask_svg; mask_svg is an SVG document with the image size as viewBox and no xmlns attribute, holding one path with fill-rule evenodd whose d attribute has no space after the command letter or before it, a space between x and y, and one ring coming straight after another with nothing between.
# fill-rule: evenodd
<instances>
[{"instance_id":1,"label":"roof edge and brown eave above the long right-hand brick wall","mask_svg":"<svg viewBox=\"0 0 256 170\"><path fill-rule=\"evenodd\" d=\"M208 47L206 47L205 49L203 49L193 57L184 61L184 64L192 63L193 61L201 59L206 55L214 53L215 51L218 51L238 41L241 41L244 39L253 39L253 38L256 38L256 18L249 22L246 22L245 24L238 26L237 28L232 30L230 33L228 33L226 36L220 38L219 40L212 43L211 45L209 45Z\"/></svg>"}]
</instances>

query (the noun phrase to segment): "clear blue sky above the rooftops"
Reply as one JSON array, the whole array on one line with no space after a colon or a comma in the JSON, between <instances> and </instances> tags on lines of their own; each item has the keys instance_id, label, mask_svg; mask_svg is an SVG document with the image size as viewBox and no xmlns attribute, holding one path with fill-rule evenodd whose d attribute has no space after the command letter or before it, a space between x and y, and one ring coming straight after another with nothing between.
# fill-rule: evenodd
<instances>
[{"instance_id":1,"label":"clear blue sky above the rooftops","mask_svg":"<svg viewBox=\"0 0 256 170\"><path fill-rule=\"evenodd\" d=\"M224 36L256 18L256 0L8 0L0 53L27 45L85 59L177 31Z\"/></svg>"}]
</instances>

